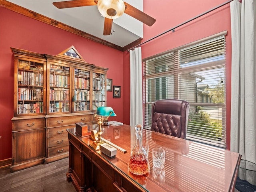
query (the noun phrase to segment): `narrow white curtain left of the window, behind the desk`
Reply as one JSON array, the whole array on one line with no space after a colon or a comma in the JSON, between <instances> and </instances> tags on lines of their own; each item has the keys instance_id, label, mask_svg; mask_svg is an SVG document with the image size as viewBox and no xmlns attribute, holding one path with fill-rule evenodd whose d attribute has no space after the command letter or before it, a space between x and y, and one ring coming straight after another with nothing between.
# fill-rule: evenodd
<instances>
[{"instance_id":1,"label":"narrow white curtain left of the window, behind the desk","mask_svg":"<svg viewBox=\"0 0 256 192\"><path fill-rule=\"evenodd\" d=\"M143 125L141 48L130 50L130 125Z\"/></svg>"}]
</instances>

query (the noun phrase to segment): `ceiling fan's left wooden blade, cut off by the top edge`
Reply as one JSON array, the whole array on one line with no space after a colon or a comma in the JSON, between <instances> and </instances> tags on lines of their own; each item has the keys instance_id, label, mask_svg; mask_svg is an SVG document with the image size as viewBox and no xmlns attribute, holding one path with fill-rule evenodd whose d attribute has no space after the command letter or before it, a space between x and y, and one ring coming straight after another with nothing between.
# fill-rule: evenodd
<instances>
[{"instance_id":1,"label":"ceiling fan's left wooden blade, cut off by the top edge","mask_svg":"<svg viewBox=\"0 0 256 192\"><path fill-rule=\"evenodd\" d=\"M71 1L60 1L53 2L54 6L59 9L63 8L71 8L71 7L82 7L82 6L90 6L96 5L98 0L71 0Z\"/></svg>"}]
</instances>

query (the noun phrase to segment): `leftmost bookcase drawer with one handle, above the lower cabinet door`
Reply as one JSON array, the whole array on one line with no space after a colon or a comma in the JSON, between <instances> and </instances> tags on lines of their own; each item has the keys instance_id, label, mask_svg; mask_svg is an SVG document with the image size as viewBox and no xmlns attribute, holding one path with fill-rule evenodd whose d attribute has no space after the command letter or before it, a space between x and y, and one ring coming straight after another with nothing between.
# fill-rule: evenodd
<instances>
[{"instance_id":1,"label":"leftmost bookcase drawer with one handle, above the lower cabinet door","mask_svg":"<svg viewBox=\"0 0 256 192\"><path fill-rule=\"evenodd\" d=\"M23 131L28 129L38 129L45 127L45 119L22 119L12 121L13 131Z\"/></svg>"}]
</instances>

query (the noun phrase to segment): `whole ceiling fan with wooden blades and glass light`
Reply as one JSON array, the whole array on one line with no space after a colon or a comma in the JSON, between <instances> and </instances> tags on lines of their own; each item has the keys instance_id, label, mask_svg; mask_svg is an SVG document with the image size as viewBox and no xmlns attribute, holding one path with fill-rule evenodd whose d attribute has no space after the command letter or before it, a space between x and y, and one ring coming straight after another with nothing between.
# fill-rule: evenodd
<instances>
[{"instance_id":1,"label":"whole ceiling fan with wooden blades and glass light","mask_svg":"<svg viewBox=\"0 0 256 192\"><path fill-rule=\"evenodd\" d=\"M152 26L156 20L123 0L70 0L53 2L59 9L97 5L99 12L105 17L103 35L110 35L113 19L126 13L133 18Z\"/></svg>"}]
</instances>

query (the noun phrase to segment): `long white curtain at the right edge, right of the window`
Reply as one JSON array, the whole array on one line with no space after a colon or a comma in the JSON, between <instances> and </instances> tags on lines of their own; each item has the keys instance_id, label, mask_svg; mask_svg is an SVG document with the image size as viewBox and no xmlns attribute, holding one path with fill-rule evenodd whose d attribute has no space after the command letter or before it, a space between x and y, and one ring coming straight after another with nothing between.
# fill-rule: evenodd
<instances>
[{"instance_id":1,"label":"long white curtain at the right edge, right of the window","mask_svg":"<svg viewBox=\"0 0 256 192\"><path fill-rule=\"evenodd\" d=\"M255 0L230 3L232 37L231 150L242 155L238 176L256 185Z\"/></svg>"}]
</instances>

